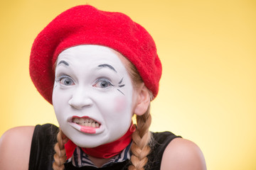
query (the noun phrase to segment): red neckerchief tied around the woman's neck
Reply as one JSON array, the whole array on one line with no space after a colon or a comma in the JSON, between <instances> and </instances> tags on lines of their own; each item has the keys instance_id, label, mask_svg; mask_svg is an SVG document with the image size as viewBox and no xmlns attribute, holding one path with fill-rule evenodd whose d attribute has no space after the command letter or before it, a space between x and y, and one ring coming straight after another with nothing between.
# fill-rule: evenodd
<instances>
[{"instance_id":1,"label":"red neckerchief tied around the woman's neck","mask_svg":"<svg viewBox=\"0 0 256 170\"><path fill-rule=\"evenodd\" d=\"M129 145L132 141L132 133L136 130L135 126L132 124L129 130L127 130L126 134L119 138L119 140L115 140L114 142L107 143L105 145L100 145L98 147L93 148L85 148L82 147L82 151L85 154L88 154L92 157L97 158L110 158L122 152L122 150ZM73 152L75 151L75 145L71 140L65 144L65 152L67 155L67 159L72 157Z\"/></svg>"}]
</instances>

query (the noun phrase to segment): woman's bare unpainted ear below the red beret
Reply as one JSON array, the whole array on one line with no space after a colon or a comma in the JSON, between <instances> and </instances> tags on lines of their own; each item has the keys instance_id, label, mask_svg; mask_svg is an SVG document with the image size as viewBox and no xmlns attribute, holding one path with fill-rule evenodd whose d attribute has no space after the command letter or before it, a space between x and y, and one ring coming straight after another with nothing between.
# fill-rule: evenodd
<instances>
[{"instance_id":1,"label":"woman's bare unpainted ear below the red beret","mask_svg":"<svg viewBox=\"0 0 256 170\"><path fill-rule=\"evenodd\" d=\"M143 115L146 113L146 110L149 108L150 103L150 96L149 90L146 88L144 84L139 88L138 96L137 96L137 103L134 108L134 114L136 115Z\"/></svg>"}]
</instances>

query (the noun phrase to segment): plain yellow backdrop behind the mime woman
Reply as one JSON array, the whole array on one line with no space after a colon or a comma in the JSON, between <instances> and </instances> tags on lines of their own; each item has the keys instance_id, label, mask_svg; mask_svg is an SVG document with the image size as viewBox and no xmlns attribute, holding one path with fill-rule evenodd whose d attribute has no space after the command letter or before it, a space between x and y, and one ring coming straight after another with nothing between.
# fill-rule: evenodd
<instances>
[{"instance_id":1,"label":"plain yellow backdrop behind the mime woman","mask_svg":"<svg viewBox=\"0 0 256 170\"><path fill-rule=\"evenodd\" d=\"M151 130L196 142L208 169L256 169L256 1L1 1L0 135L54 123L28 74L36 35L78 4L126 13L156 41L163 63ZM17 141L18 142L18 141Z\"/></svg>"}]
</instances>

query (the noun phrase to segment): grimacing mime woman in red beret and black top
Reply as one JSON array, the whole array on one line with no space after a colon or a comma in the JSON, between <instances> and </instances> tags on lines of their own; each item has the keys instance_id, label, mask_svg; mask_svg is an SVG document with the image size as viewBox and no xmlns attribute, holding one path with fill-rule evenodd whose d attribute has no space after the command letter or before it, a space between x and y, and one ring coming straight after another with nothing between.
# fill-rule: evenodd
<instances>
[{"instance_id":1,"label":"grimacing mime woman in red beret and black top","mask_svg":"<svg viewBox=\"0 0 256 170\"><path fill-rule=\"evenodd\" d=\"M60 128L5 132L0 169L206 169L193 142L149 132L161 62L151 35L123 13L61 13L34 41L30 73Z\"/></svg>"}]
</instances>

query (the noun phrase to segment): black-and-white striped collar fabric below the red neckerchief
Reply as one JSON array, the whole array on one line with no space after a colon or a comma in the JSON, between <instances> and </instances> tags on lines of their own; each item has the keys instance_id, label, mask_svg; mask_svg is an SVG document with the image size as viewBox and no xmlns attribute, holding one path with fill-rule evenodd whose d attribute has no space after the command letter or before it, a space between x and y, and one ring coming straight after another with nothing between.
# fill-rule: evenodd
<instances>
[{"instance_id":1,"label":"black-and-white striped collar fabric below the red neckerchief","mask_svg":"<svg viewBox=\"0 0 256 170\"><path fill-rule=\"evenodd\" d=\"M131 158L131 153L130 153L131 145L132 145L132 142L124 150L122 150L122 152L120 154L117 154L115 157L110 159L109 162L107 162L106 164L103 164L102 168L110 166L117 162L124 162L127 159L130 159ZM75 148L75 152L74 152L73 156L70 157L70 159L68 159L68 161L66 163L68 163L68 162L72 162L73 166L76 166L76 167L93 166L93 167L98 168L97 166L95 166L95 164L93 164L90 161L87 154L85 154L85 152L82 152L82 149L80 147Z\"/></svg>"}]
</instances>

